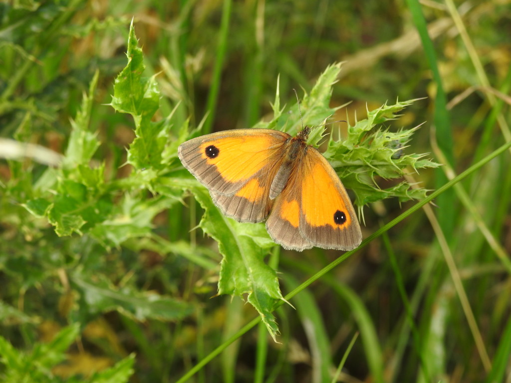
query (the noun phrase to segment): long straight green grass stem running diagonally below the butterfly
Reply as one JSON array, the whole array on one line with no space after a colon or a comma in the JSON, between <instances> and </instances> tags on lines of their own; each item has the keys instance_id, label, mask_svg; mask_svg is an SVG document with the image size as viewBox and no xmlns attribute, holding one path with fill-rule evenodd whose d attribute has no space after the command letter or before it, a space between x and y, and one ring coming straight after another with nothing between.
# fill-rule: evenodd
<instances>
[{"instance_id":1,"label":"long straight green grass stem running diagonally below the butterfly","mask_svg":"<svg viewBox=\"0 0 511 383\"><path fill-rule=\"evenodd\" d=\"M415 211L419 210L429 202L431 202L433 199L438 197L440 194L444 193L446 190L451 188L456 183L460 182L464 178L468 177L470 174L475 172L476 170L480 169L483 165L491 161L493 158L497 157L498 155L502 154L504 151L511 148L511 141L506 142L504 145L499 147L497 150L493 151L474 165L470 166L466 171L459 174L455 178L453 178L451 181L447 182L446 184L439 187L437 190L435 190L433 193L431 193L427 198L424 200L417 202L415 205L410 207L408 210L400 214L398 217L394 218L392 221L387 223L386 225L382 226L380 229L375 231L373 234L369 235L367 238L365 238L364 241L360 244L360 246L352 251L348 251L341 255L339 258L335 259L331 264L324 267L320 271L318 271L316 274L311 276L309 279L307 279L305 282L298 285L293 291L291 291L289 294L285 296L286 300L290 300L292 297L294 297L296 294L298 294L300 291L304 290L309 286L311 283L322 277L323 275L330 272L332 269L337 267L344 259L347 257L350 257L352 254L354 254L358 249L361 249L362 247L369 244L371 241L373 241L375 238L382 235L384 232L388 231L393 226L396 226L399 222L403 221L405 218L413 214ZM235 342L238 338L240 338L243 334L245 334L248 330L253 328L255 325L257 325L261 321L261 317L258 316L257 318L252 319L250 322L248 322L245 326L240 328L239 331L237 331L233 336L231 336L229 339L227 339L224 343L222 343L220 346L215 348L212 352L210 352L208 355L206 355L199 363L197 363L193 368L191 368L186 374L184 374L179 380L177 380L176 383L183 383L184 381L187 381L189 378L191 378L197 371L199 371L202 367L204 367L207 363L209 363L215 356L217 356L219 353L221 353L225 348L227 348L231 343Z\"/></svg>"}]
</instances>

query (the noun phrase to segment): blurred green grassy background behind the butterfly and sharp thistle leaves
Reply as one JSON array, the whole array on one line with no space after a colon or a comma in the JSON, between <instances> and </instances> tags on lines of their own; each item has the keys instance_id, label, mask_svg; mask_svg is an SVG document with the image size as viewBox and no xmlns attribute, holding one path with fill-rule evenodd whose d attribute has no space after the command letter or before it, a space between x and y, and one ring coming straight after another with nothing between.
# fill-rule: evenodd
<instances>
[{"instance_id":1,"label":"blurred green grassy background behind the butterfly and sharp thistle leaves","mask_svg":"<svg viewBox=\"0 0 511 383\"><path fill-rule=\"evenodd\" d=\"M293 88L344 61L331 106L351 104L331 121L423 98L383 128L424 123L406 152L446 165L408 181L434 190L511 140L508 0L13 1L0 16L0 379L173 382L196 366L189 381L511 381L509 150L278 308L280 343L259 325L202 366L257 312L215 296L221 256L190 231L200 207L126 181L133 118L107 105L132 19L161 92L154 119L175 108L176 140L205 115L204 132L250 127L271 117L277 77L293 105ZM65 153L96 71L86 115L104 167L90 185L130 222L112 242L59 236L45 205L27 208L70 174L44 148ZM366 207L364 237L414 203ZM286 294L340 253L277 255Z\"/></svg>"}]
</instances>

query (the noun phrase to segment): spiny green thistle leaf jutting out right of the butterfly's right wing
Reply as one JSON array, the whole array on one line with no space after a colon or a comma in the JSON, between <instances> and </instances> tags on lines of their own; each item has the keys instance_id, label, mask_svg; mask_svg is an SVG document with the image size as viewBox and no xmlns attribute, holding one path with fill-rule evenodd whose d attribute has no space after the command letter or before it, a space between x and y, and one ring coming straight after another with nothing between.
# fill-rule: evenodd
<instances>
[{"instance_id":1,"label":"spiny green thistle leaf jutting out right of the butterfly's right wing","mask_svg":"<svg viewBox=\"0 0 511 383\"><path fill-rule=\"evenodd\" d=\"M426 154L406 154L406 145L418 127L402 128L397 132L378 127L378 124L398 118L397 113L414 101L385 104L368 111L367 118L348 126L347 137L330 137L323 155L337 170L344 186L355 192L359 208L390 197L397 197L400 201L426 197L428 190L412 188L404 181L386 189L378 185L380 178L403 178L410 171L438 166L425 159ZM337 136L341 136L340 131Z\"/></svg>"}]
</instances>

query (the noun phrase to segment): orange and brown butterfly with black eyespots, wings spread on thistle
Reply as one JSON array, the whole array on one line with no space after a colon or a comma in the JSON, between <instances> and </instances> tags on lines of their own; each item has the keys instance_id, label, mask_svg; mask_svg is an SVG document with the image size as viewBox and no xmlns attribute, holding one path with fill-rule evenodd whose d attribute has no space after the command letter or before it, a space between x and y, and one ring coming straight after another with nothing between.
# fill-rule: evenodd
<instances>
[{"instance_id":1,"label":"orange and brown butterfly with black eyespots, wings spread on thistle","mask_svg":"<svg viewBox=\"0 0 511 383\"><path fill-rule=\"evenodd\" d=\"M307 144L309 133L227 130L183 142L178 156L225 216L266 220L285 249L355 249L362 241L355 210L330 163Z\"/></svg>"}]
</instances>

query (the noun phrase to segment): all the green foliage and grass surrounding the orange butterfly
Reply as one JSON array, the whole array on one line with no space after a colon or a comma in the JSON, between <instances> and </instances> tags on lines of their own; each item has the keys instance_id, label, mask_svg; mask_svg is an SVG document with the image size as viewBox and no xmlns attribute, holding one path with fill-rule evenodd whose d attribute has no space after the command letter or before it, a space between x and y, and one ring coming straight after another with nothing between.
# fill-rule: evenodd
<instances>
[{"instance_id":1,"label":"all the green foliage and grass surrounding the orange butterfly","mask_svg":"<svg viewBox=\"0 0 511 383\"><path fill-rule=\"evenodd\" d=\"M331 381L341 358L344 380L502 379L502 4L462 15L450 1L440 11L415 0L362 11L228 0L0 7L1 380L210 381L221 370L219 381ZM332 64L339 52L351 54ZM466 89L475 93L455 98ZM386 101L398 97L410 101ZM177 147L238 124L314 127L309 143L353 192L369 246L297 254L264 224L223 217ZM456 172L435 201L439 222L427 207L426 221L413 204ZM255 317L257 340L246 334Z\"/></svg>"}]
</instances>

